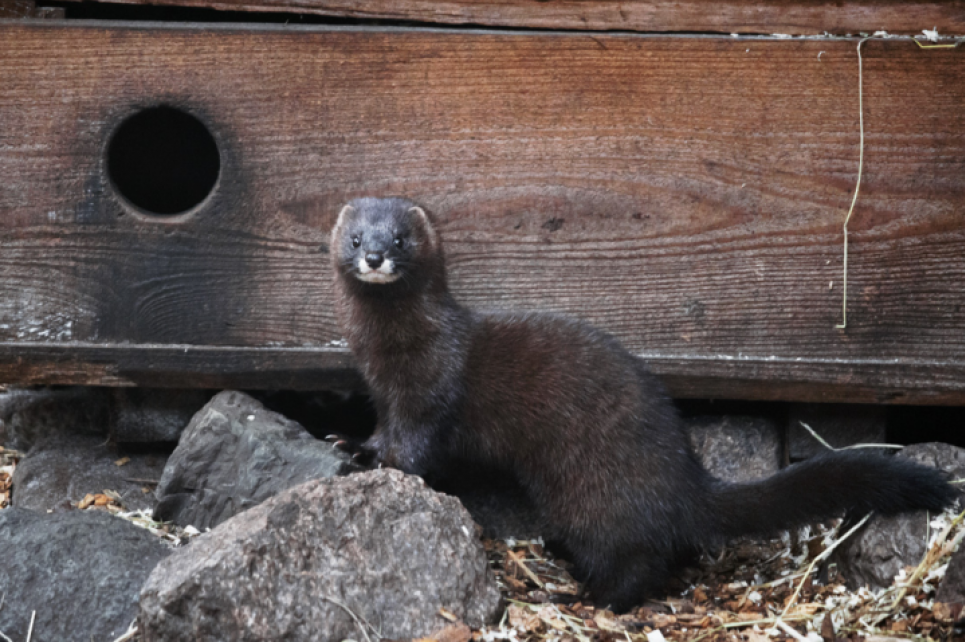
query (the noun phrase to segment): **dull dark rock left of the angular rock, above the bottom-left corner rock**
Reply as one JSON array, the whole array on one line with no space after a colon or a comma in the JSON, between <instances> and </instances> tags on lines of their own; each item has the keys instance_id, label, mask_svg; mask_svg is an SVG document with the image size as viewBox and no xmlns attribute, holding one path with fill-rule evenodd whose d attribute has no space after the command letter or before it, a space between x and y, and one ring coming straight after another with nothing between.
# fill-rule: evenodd
<instances>
[{"instance_id":1,"label":"dull dark rock left of the angular rock, above the bottom-left corner rock","mask_svg":"<svg viewBox=\"0 0 965 642\"><path fill-rule=\"evenodd\" d=\"M36 511L66 510L88 493L112 490L127 510L153 510L154 484L161 478L166 455L131 453L130 461L118 466L115 462L123 456L103 437L47 440L17 465L12 504Z\"/></svg>"}]
</instances>

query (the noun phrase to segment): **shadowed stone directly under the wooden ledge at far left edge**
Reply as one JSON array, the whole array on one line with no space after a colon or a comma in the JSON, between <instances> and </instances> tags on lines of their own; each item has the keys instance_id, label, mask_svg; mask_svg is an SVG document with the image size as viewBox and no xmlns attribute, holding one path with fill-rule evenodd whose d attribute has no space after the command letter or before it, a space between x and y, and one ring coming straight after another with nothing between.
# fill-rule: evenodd
<instances>
[{"instance_id":1,"label":"shadowed stone directly under the wooden ledge at far left edge","mask_svg":"<svg viewBox=\"0 0 965 642\"><path fill-rule=\"evenodd\" d=\"M0 393L4 446L26 452L38 444L71 435L107 435L107 388L11 388Z\"/></svg>"}]
</instances>

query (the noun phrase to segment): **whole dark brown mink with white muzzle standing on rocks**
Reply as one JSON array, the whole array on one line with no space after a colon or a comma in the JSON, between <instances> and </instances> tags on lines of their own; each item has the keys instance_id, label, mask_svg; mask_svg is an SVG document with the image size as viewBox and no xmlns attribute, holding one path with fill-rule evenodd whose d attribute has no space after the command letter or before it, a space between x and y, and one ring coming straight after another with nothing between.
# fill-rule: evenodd
<instances>
[{"instance_id":1,"label":"whole dark brown mink with white muzzle standing on rocks","mask_svg":"<svg viewBox=\"0 0 965 642\"><path fill-rule=\"evenodd\" d=\"M937 470L857 450L754 482L712 477L659 381L609 334L459 305L440 237L406 199L351 201L331 254L339 324L378 415L364 447L429 477L466 461L512 471L598 604L625 610L735 536L956 497Z\"/></svg>"}]
</instances>

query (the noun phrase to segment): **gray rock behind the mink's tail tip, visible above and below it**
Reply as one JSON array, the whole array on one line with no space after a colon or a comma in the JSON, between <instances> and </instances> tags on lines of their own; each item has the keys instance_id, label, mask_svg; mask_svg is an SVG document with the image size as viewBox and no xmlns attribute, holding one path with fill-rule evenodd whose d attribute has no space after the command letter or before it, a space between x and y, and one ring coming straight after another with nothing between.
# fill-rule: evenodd
<instances>
[{"instance_id":1,"label":"gray rock behind the mink's tail tip, visible above and below it","mask_svg":"<svg viewBox=\"0 0 965 642\"><path fill-rule=\"evenodd\" d=\"M954 479L965 475L965 450L949 444L916 444L895 456L934 466ZM928 520L926 511L873 517L835 554L848 586L888 587L899 570L921 562L928 544Z\"/></svg>"}]
</instances>

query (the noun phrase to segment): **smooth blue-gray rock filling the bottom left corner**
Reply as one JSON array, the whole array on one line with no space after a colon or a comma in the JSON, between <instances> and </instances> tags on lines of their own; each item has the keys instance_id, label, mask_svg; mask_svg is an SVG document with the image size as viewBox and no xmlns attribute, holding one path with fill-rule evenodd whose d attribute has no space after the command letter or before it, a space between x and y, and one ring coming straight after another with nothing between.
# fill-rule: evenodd
<instances>
[{"instance_id":1,"label":"smooth blue-gray rock filling the bottom left corner","mask_svg":"<svg viewBox=\"0 0 965 642\"><path fill-rule=\"evenodd\" d=\"M0 511L0 631L32 642L113 640L137 615L138 593L170 548L99 511Z\"/></svg>"}]
</instances>

